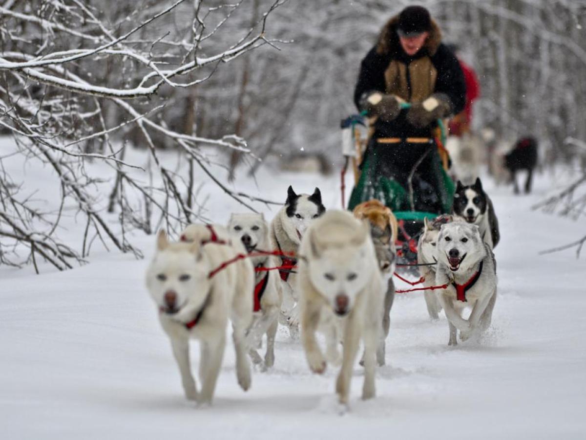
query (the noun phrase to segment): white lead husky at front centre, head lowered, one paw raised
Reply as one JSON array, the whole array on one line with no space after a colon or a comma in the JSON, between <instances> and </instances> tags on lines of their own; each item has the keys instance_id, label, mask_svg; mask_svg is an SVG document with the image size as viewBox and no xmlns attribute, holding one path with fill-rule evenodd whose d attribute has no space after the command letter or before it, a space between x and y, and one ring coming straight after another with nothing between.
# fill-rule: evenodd
<instances>
[{"instance_id":1,"label":"white lead husky at front centre, head lowered, one paw raised","mask_svg":"<svg viewBox=\"0 0 586 440\"><path fill-rule=\"evenodd\" d=\"M360 339L364 341L362 398L374 397L374 368L381 333L383 277L380 274L367 222L346 211L329 211L308 229L299 248L298 287L302 343L309 368L323 373L326 358L316 340L325 331L328 355L338 358L342 332L342 368L336 393L347 404L350 377Z\"/></svg>"}]
</instances>

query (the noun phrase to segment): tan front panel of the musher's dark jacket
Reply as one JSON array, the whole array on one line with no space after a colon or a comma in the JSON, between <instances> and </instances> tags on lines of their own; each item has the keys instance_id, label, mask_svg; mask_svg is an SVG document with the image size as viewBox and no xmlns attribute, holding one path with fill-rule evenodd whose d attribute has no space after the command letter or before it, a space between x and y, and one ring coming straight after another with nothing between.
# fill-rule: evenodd
<instances>
[{"instance_id":1,"label":"tan front panel of the musher's dark jacket","mask_svg":"<svg viewBox=\"0 0 586 440\"><path fill-rule=\"evenodd\" d=\"M410 103L420 103L434 93L437 76L438 72L431 63L430 57L423 56L413 60L409 64L410 97L409 87L407 86L407 65L393 60L384 72L386 92L396 94Z\"/></svg>"}]
</instances>

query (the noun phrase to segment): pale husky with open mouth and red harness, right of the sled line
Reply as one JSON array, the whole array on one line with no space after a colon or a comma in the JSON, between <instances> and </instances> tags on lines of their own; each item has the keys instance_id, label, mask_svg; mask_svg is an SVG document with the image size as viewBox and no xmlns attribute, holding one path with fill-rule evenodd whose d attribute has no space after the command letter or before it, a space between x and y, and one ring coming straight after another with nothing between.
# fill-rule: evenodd
<instances>
[{"instance_id":1,"label":"pale husky with open mouth and red harness, right of the sled line","mask_svg":"<svg viewBox=\"0 0 586 440\"><path fill-rule=\"evenodd\" d=\"M438 293L449 323L448 345L456 345L456 329L466 340L488 329L496 301L496 263L490 246L482 241L478 226L453 222L441 226L437 242ZM472 307L466 320L465 307Z\"/></svg>"}]
</instances>

